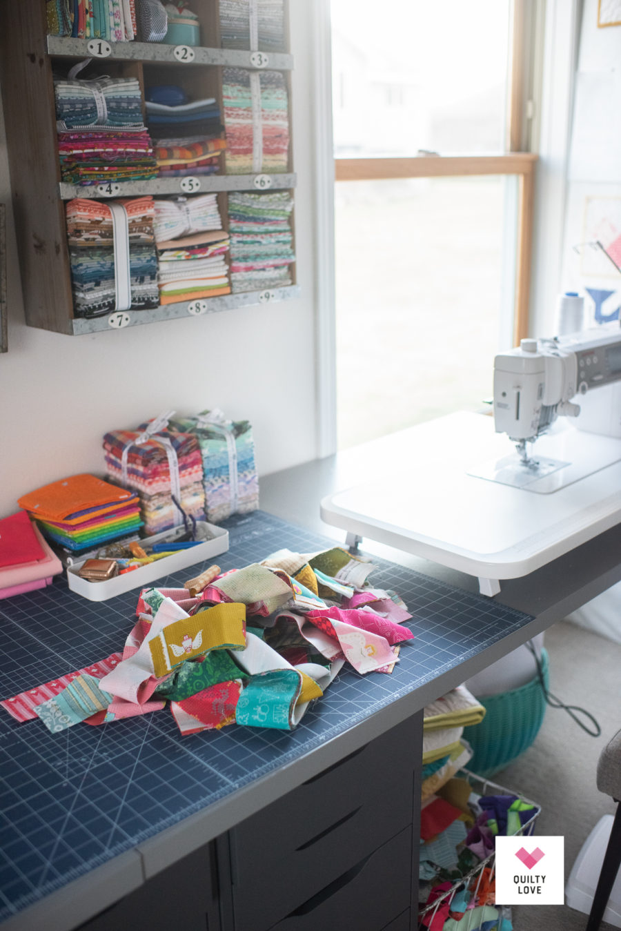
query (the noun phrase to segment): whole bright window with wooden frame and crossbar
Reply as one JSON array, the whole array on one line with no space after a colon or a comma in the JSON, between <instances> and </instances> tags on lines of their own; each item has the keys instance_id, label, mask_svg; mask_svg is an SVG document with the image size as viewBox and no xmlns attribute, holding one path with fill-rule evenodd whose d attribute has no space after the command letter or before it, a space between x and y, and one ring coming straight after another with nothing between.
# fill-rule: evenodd
<instances>
[{"instance_id":1,"label":"whole bright window with wooden frame and crossbar","mask_svg":"<svg viewBox=\"0 0 621 931\"><path fill-rule=\"evenodd\" d=\"M331 0L337 439L492 391L526 335L528 0Z\"/></svg>"}]
</instances>

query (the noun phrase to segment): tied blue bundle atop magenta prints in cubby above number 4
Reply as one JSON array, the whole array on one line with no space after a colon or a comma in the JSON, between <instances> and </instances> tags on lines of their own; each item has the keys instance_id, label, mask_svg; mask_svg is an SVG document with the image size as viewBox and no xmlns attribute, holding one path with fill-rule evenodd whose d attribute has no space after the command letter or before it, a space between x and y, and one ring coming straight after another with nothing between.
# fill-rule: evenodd
<instances>
[{"instance_id":1,"label":"tied blue bundle atop magenta prints in cubby above number 4","mask_svg":"<svg viewBox=\"0 0 621 931\"><path fill-rule=\"evenodd\" d=\"M62 181L90 185L157 177L137 78L58 79L54 93Z\"/></svg>"}]
</instances>

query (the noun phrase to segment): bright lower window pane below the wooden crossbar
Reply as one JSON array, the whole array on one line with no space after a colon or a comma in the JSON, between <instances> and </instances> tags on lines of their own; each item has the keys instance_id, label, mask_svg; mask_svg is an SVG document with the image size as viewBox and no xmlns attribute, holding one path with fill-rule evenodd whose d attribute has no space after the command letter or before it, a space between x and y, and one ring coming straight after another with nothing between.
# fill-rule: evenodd
<instances>
[{"instance_id":1,"label":"bright lower window pane below the wooden crossbar","mask_svg":"<svg viewBox=\"0 0 621 931\"><path fill-rule=\"evenodd\" d=\"M505 185L500 176L336 184L340 449L490 398Z\"/></svg>"}]
</instances>

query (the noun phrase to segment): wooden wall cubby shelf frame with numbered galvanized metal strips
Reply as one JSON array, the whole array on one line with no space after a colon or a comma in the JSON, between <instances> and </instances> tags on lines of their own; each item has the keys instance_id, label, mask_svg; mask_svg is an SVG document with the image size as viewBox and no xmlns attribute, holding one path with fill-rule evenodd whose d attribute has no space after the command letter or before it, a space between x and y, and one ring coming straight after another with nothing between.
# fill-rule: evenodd
<instances>
[{"instance_id":1,"label":"wooden wall cubby shelf frame with numbered galvanized metal strips","mask_svg":"<svg viewBox=\"0 0 621 931\"><path fill-rule=\"evenodd\" d=\"M251 74L262 74L265 69L285 72L285 84L290 94L289 76L293 59L287 51L286 0L282 50L277 52L261 47L256 51L221 48L218 0L201 0L196 12L201 36L203 41L209 41L209 47L137 41L106 42L47 35L46 0L17 0L13 3L0 0L0 81L24 312L29 326L73 336L188 315L203 316L273 300L284 301L299 293L295 284L295 265L291 263L292 284L288 287L267 292L242 291L199 302L165 304L151 310L129 309L115 312L116 317L115 313L94 318L74 316L66 201L74 197L110 200L214 192L218 193L223 228L228 230L226 192L261 193L287 191L295 187L296 176L290 151L281 173L227 174L224 152L220 156L220 171L212 175L162 177L92 186L61 181L54 79L56 74L69 71L73 64L71 60L90 59L88 77L109 74L112 77L135 78L143 92L150 83L179 84L191 100L215 98L219 101L221 114L224 113L223 69L227 67L247 69ZM256 89L258 82L253 83ZM256 114L253 113L253 127L255 120ZM225 117L223 123L226 125ZM240 168L248 170L246 165ZM115 318L111 321L111 317Z\"/></svg>"}]
</instances>

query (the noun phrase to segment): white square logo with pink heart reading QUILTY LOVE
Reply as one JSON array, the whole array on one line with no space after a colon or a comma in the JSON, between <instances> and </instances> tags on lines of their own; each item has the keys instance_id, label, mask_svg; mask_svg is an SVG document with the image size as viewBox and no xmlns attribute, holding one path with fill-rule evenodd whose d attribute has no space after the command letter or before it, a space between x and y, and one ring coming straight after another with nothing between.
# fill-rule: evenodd
<instances>
[{"instance_id":1,"label":"white square logo with pink heart reading QUILTY LOVE","mask_svg":"<svg viewBox=\"0 0 621 931\"><path fill-rule=\"evenodd\" d=\"M505 905L562 905L563 845L562 837L538 837L530 843L520 835L496 837L496 901Z\"/></svg>"}]
</instances>

